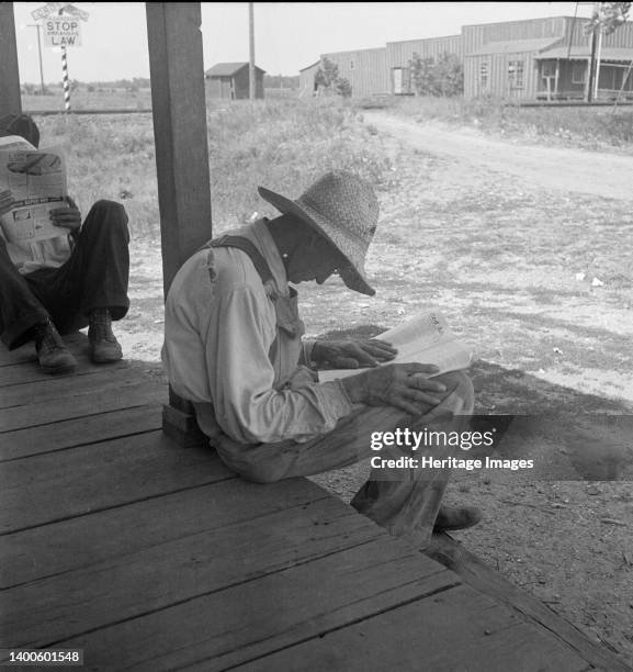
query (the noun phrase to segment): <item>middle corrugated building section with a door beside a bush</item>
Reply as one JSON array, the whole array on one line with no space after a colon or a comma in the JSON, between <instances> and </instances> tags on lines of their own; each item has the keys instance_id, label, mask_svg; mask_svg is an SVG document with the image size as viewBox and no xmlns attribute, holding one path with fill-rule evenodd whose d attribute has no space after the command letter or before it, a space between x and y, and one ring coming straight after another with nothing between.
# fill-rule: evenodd
<instances>
[{"instance_id":1,"label":"middle corrugated building section with a door beside a bush","mask_svg":"<svg viewBox=\"0 0 633 672\"><path fill-rule=\"evenodd\" d=\"M409 63L414 54L437 60L442 54L455 54L463 58L462 36L429 37L387 42L387 67L389 68L389 92L394 96L412 96L414 87Z\"/></svg>"}]
</instances>

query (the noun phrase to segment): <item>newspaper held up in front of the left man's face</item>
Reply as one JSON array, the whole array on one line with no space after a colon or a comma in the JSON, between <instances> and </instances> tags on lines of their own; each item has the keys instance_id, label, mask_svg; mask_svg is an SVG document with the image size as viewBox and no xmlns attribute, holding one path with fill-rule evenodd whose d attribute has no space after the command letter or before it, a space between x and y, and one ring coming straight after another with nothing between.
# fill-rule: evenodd
<instances>
[{"instance_id":1,"label":"newspaper held up in front of the left man's face","mask_svg":"<svg viewBox=\"0 0 633 672\"><path fill-rule=\"evenodd\" d=\"M10 192L11 210L0 215L9 243L35 243L68 235L55 226L50 211L68 195L66 164L56 148L35 149L19 135L0 137L0 199ZM4 198L2 198L4 197Z\"/></svg>"}]
</instances>

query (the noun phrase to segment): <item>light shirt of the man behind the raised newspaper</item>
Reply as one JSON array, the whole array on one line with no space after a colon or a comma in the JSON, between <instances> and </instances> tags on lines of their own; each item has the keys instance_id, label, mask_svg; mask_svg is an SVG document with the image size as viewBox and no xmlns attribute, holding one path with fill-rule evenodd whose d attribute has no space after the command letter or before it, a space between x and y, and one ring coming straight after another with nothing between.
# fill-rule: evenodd
<instances>
[{"instance_id":1,"label":"light shirt of the man behind the raised newspaper","mask_svg":"<svg viewBox=\"0 0 633 672\"><path fill-rule=\"evenodd\" d=\"M2 139L7 143L3 146L4 150L7 150L7 147L29 149L32 152L36 150L31 143L18 135L10 135ZM11 144L9 145L9 143ZM70 258L70 253L72 251L72 238L70 234L59 235L55 238L47 238L45 240L35 240L33 243L27 240L9 243L0 226L0 237L4 238L7 242L9 257L23 276L38 268L59 268Z\"/></svg>"}]
</instances>

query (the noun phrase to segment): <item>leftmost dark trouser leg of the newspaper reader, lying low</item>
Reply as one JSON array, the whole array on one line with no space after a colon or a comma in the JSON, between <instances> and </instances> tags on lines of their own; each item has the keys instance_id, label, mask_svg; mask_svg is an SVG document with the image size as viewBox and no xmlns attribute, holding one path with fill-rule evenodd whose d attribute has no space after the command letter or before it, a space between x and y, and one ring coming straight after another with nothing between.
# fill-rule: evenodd
<instances>
[{"instance_id":1,"label":"leftmost dark trouser leg of the newspaper reader, lying low","mask_svg":"<svg viewBox=\"0 0 633 672\"><path fill-rule=\"evenodd\" d=\"M9 348L16 348L30 340L32 328L44 322L48 312L31 291L7 251L7 243L0 237L0 338Z\"/></svg>"}]
</instances>

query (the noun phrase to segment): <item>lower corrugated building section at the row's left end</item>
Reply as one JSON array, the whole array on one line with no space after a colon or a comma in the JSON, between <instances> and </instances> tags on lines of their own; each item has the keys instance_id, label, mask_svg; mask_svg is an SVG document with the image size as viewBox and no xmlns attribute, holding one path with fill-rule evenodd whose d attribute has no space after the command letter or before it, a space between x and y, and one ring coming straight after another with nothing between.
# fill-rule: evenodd
<instances>
[{"instance_id":1,"label":"lower corrugated building section at the row's left end","mask_svg":"<svg viewBox=\"0 0 633 672\"><path fill-rule=\"evenodd\" d=\"M321 61L326 58L335 63L339 76L350 82L353 98L391 92L386 47L321 54Z\"/></svg>"}]
</instances>

